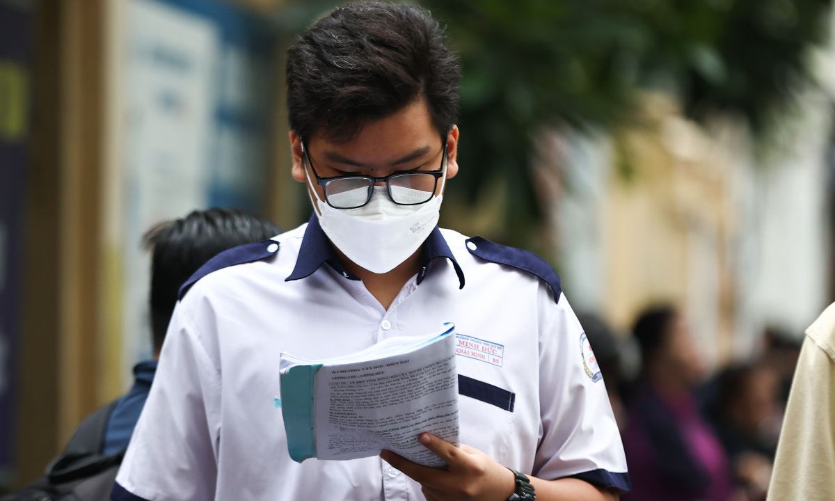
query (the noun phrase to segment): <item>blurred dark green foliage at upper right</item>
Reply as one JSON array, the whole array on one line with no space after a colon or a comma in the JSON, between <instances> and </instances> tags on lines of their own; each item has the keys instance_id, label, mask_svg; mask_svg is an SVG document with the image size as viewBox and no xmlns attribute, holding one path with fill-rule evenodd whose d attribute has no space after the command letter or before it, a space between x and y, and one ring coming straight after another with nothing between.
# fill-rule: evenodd
<instances>
[{"instance_id":1,"label":"blurred dark green foliage at upper right","mask_svg":"<svg viewBox=\"0 0 835 501\"><path fill-rule=\"evenodd\" d=\"M676 94L686 112L764 129L810 79L829 0L423 0L461 54L460 179L474 201L507 186L505 240L532 245L539 220L531 138L549 124L630 120L636 89Z\"/></svg>"}]
</instances>

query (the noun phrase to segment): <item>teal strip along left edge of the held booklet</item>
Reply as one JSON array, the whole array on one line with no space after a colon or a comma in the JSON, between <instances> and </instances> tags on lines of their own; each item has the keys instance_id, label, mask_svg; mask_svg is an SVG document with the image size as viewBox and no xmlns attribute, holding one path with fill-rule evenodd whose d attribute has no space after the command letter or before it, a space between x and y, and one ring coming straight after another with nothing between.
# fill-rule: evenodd
<instances>
[{"instance_id":1,"label":"teal strip along left edge of the held booklet","mask_svg":"<svg viewBox=\"0 0 835 501\"><path fill-rule=\"evenodd\" d=\"M316 458L313 421L314 378L321 364L292 367L281 374L281 415L290 457L297 463Z\"/></svg>"}]
</instances>

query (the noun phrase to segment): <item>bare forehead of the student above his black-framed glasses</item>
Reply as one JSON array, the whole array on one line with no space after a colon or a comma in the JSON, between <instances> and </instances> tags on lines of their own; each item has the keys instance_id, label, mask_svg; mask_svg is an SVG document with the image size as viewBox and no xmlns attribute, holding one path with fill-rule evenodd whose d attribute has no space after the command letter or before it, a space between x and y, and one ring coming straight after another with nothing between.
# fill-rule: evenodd
<instances>
[{"instance_id":1,"label":"bare forehead of the student above his black-framed glasses","mask_svg":"<svg viewBox=\"0 0 835 501\"><path fill-rule=\"evenodd\" d=\"M352 158L397 155L426 145L441 143L441 133L434 126L423 98L399 111L363 125L351 139L336 141L326 131L317 130L308 140L309 149L327 149Z\"/></svg>"}]
</instances>

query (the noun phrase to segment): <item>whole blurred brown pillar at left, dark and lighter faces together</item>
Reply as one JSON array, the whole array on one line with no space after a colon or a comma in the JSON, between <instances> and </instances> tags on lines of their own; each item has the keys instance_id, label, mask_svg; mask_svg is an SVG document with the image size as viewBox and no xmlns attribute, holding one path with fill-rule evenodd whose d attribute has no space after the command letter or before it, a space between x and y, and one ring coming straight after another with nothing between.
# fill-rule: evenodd
<instances>
[{"instance_id":1,"label":"whole blurred brown pillar at left, dark and lighter faces together","mask_svg":"<svg viewBox=\"0 0 835 501\"><path fill-rule=\"evenodd\" d=\"M100 0L36 5L17 483L98 404Z\"/></svg>"}]
</instances>

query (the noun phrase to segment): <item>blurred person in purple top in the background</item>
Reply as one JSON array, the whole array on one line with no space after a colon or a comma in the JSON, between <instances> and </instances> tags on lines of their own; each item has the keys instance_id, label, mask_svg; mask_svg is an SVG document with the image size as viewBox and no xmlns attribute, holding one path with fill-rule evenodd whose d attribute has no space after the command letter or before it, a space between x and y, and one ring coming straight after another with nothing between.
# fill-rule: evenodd
<instances>
[{"instance_id":1,"label":"blurred person in purple top in the background","mask_svg":"<svg viewBox=\"0 0 835 501\"><path fill-rule=\"evenodd\" d=\"M731 477L725 451L694 397L706 365L686 318L655 306L635 322L642 367L628 402L624 448L635 501L727 501Z\"/></svg>"}]
</instances>

